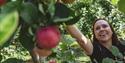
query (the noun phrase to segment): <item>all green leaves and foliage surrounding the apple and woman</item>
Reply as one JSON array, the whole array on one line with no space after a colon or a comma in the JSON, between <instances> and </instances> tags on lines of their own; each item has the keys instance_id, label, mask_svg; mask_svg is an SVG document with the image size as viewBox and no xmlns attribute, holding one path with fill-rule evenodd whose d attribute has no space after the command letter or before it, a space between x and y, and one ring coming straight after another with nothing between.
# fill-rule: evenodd
<instances>
[{"instance_id":1,"label":"all green leaves and foliage surrounding the apple and woman","mask_svg":"<svg viewBox=\"0 0 125 63\"><path fill-rule=\"evenodd\" d=\"M115 28L119 38L124 40L123 4L124 0L75 0L71 4L56 3L56 0L8 0L0 7L0 47L3 47L0 60L5 63L18 59L25 61L26 58L23 56L28 58L29 55L32 56L36 29L58 25L62 40L57 48L53 49L53 54L48 57L48 60L56 58L60 63L89 63L90 59L82 52L75 40L66 35L64 24L76 23L79 29L92 40L92 22L97 18L106 18ZM5 44L8 47L5 47ZM112 53L122 57L121 54L117 54L117 48L113 48ZM9 60L6 61L6 59ZM104 63L110 60L112 61L106 58ZM117 62L120 63L120 61Z\"/></svg>"}]
</instances>

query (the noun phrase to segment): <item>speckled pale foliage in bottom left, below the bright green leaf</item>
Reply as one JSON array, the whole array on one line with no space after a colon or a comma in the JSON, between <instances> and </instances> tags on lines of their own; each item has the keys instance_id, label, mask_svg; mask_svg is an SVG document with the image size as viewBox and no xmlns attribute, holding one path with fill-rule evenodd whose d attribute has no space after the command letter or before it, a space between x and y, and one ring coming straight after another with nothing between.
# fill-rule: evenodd
<instances>
[{"instance_id":1,"label":"speckled pale foliage in bottom left, below the bright green leaf","mask_svg":"<svg viewBox=\"0 0 125 63\"><path fill-rule=\"evenodd\" d=\"M31 58L29 52L20 44L17 37L18 35L14 36L13 40L9 43L10 45L1 49L1 63L18 63Z\"/></svg>"}]
</instances>

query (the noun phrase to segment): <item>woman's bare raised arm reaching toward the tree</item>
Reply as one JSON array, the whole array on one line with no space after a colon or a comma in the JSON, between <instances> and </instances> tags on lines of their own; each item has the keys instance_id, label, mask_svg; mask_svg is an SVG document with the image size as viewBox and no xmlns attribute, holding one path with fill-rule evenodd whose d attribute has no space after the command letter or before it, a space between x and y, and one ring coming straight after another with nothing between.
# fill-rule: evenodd
<instances>
[{"instance_id":1,"label":"woman's bare raised arm reaching toward the tree","mask_svg":"<svg viewBox=\"0 0 125 63\"><path fill-rule=\"evenodd\" d=\"M81 33L81 31L75 25L67 25L67 31L72 37L74 37L78 44L85 50L87 55L91 55L93 52L92 43Z\"/></svg>"}]
</instances>

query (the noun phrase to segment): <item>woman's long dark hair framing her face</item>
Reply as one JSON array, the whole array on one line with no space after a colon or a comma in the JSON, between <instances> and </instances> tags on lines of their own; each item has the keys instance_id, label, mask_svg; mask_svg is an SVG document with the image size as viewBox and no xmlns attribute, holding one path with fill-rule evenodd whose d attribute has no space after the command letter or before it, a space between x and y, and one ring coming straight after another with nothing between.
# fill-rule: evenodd
<instances>
[{"instance_id":1,"label":"woman's long dark hair framing her face","mask_svg":"<svg viewBox=\"0 0 125 63\"><path fill-rule=\"evenodd\" d=\"M93 29L92 29L92 31L93 31L93 43L94 43L94 42L98 42L97 38L95 37L95 33L94 33L94 25L95 25L95 23L96 23L98 20L105 20L105 21L107 21L106 19L101 19L101 18L100 18L100 19L96 19L96 20L93 22ZM113 45L118 45L118 44L120 43L120 41L119 41L119 39L118 39L118 37L117 37L117 35L116 35L116 33L115 33L113 27L111 26L111 24L110 24L110 23L108 23L108 24L109 24L109 26L110 26L110 28L111 28L111 30L112 30L112 32L113 32L113 34L112 34L112 44L113 44Z\"/></svg>"}]
</instances>

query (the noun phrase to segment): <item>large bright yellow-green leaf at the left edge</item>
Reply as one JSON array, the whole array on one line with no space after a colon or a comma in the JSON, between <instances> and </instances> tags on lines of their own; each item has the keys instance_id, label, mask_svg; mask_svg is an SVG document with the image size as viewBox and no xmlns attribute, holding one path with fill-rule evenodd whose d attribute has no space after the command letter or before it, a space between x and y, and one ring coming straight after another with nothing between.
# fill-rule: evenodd
<instances>
[{"instance_id":1,"label":"large bright yellow-green leaf at the left edge","mask_svg":"<svg viewBox=\"0 0 125 63\"><path fill-rule=\"evenodd\" d=\"M0 15L0 46L2 46L16 30L18 19L17 11Z\"/></svg>"}]
</instances>

